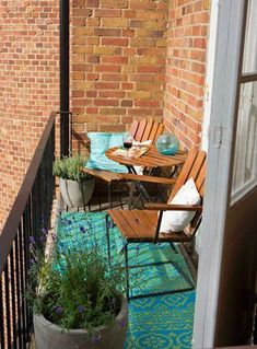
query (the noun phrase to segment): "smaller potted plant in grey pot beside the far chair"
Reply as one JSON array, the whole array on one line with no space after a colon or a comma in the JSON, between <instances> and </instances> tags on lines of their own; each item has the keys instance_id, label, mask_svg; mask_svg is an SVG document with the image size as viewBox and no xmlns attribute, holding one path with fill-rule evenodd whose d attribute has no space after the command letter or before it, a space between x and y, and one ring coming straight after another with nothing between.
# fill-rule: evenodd
<instances>
[{"instance_id":1,"label":"smaller potted plant in grey pot beside the far chair","mask_svg":"<svg viewBox=\"0 0 257 349\"><path fill-rule=\"evenodd\" d=\"M52 174L60 177L61 196L68 207L85 207L94 190L95 179L83 172L87 159L74 154L54 163Z\"/></svg>"}]
</instances>

